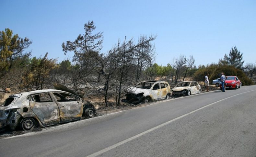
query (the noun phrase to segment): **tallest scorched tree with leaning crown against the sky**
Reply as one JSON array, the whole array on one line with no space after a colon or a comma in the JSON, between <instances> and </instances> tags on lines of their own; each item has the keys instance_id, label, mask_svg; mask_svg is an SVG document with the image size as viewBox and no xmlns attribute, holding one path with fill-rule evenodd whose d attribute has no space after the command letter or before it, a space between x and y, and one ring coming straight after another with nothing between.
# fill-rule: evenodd
<instances>
[{"instance_id":1,"label":"tallest scorched tree with leaning crown against the sky","mask_svg":"<svg viewBox=\"0 0 256 157\"><path fill-rule=\"evenodd\" d=\"M73 42L67 41L62 44L64 54L68 51L74 51L73 62L76 63L76 77L73 78L75 88L87 82L87 76L97 73L100 77L104 74L105 65L104 57L99 51L102 48L103 32L92 32L96 29L93 21L88 21L84 25L85 34L79 34L77 39ZM99 82L98 77L98 82Z\"/></svg>"}]
</instances>

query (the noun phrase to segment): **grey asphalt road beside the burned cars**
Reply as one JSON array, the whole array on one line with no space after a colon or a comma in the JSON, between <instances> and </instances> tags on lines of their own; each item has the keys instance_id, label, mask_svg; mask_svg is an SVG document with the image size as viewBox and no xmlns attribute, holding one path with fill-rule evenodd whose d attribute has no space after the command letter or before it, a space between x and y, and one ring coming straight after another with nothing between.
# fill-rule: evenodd
<instances>
[{"instance_id":1,"label":"grey asphalt road beside the burned cars","mask_svg":"<svg viewBox=\"0 0 256 157\"><path fill-rule=\"evenodd\" d=\"M256 86L157 102L0 140L0 156L256 156Z\"/></svg>"}]
</instances>

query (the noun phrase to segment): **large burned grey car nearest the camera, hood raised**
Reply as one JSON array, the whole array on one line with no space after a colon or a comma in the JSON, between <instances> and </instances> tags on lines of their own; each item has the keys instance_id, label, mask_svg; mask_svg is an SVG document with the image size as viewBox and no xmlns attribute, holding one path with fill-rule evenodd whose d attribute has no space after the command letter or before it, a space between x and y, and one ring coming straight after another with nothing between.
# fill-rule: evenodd
<instances>
[{"instance_id":1,"label":"large burned grey car nearest the camera, hood raised","mask_svg":"<svg viewBox=\"0 0 256 157\"><path fill-rule=\"evenodd\" d=\"M55 89L36 90L10 95L0 105L0 128L20 127L27 131L59 123L94 117L92 104L83 104L81 97Z\"/></svg>"}]
</instances>

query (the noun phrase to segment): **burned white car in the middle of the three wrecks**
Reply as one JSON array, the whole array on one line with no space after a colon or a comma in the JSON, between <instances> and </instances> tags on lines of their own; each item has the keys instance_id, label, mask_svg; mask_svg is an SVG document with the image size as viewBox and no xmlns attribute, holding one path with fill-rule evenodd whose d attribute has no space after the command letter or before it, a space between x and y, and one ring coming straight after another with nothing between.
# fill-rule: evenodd
<instances>
[{"instance_id":1,"label":"burned white car in the middle of the three wrecks","mask_svg":"<svg viewBox=\"0 0 256 157\"><path fill-rule=\"evenodd\" d=\"M148 102L168 98L170 94L170 85L166 81L142 81L127 89L126 100Z\"/></svg>"}]
</instances>

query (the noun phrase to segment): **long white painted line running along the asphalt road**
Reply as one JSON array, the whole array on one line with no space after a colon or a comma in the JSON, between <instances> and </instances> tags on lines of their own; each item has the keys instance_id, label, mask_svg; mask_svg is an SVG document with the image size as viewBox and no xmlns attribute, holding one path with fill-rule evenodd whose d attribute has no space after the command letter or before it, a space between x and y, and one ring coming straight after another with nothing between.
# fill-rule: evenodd
<instances>
[{"instance_id":1,"label":"long white painted line running along the asphalt road","mask_svg":"<svg viewBox=\"0 0 256 157\"><path fill-rule=\"evenodd\" d=\"M255 90L256 90L256 89L251 90L251 91L247 91L247 92L243 92L243 93L239 93L239 94L237 94L237 95L241 95L241 94L244 94L244 93L252 92L252 91L255 91ZM98 156L98 155L100 155L100 154L102 154L102 153L104 153L104 152L107 152L107 151L109 151L109 150L111 150L111 149L114 149L114 148L116 148L116 147L118 147L118 146L121 146L121 145L124 144L124 143L127 143L127 142L129 142L129 141L131 141L131 140L134 140L134 139L136 139L136 138L138 138L138 137L140 137L140 136L142 136L142 135L145 135L145 134L147 134L147 133L149 133L149 132L152 132L152 131L154 131L154 130L156 130L156 129L159 129L159 128L163 127L163 126L166 126L166 125L170 124L171 122L174 122L174 121L176 121L176 120L178 120L178 119L180 119L180 118L183 118L183 117L185 117L185 116L188 116L188 115L190 115L190 114L192 114L192 113L194 113L194 112L196 112L196 111L199 111L199 110L201 110L201 109L203 109L203 108L205 108L205 107L211 106L211 105L216 104L216 103L218 103L218 102L220 102L220 101L229 99L229 98L234 97L234 96L237 96L237 95L229 96L229 97L227 97L227 98L218 100L218 101L216 101L216 102L214 102L214 103L208 104L208 105L206 105L206 106L204 106L204 107L201 107L201 108L198 108L198 109L196 109L196 110L193 110L193 111L191 111L191 112L189 112L189 113L187 113L187 114L184 114L184 115L182 115L182 116L180 116L180 117L174 118L174 119L172 119L172 120L170 120L170 121L168 121L168 122L165 122L165 123L163 123L163 124L160 124L160 125L158 125L158 126L156 126L156 127L154 127L154 128L148 129L148 130L146 130L146 131L144 131L144 132L142 132L142 133L140 133L140 134L137 134L137 135L135 135L135 136L133 136L133 137L131 137L131 138L128 138L128 139L126 139L126 140L123 140L123 141L121 141L121 142L118 142L118 143L116 143L116 144L114 144L114 145L112 145L112 146L110 146L110 147L107 147L107 148L101 150L101 151L98 151L98 152L95 152L95 153L93 153L93 154L91 154L91 155L88 155L87 157L95 157L95 156Z\"/></svg>"}]
</instances>

